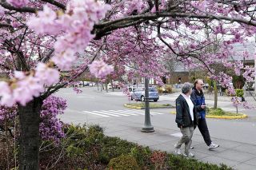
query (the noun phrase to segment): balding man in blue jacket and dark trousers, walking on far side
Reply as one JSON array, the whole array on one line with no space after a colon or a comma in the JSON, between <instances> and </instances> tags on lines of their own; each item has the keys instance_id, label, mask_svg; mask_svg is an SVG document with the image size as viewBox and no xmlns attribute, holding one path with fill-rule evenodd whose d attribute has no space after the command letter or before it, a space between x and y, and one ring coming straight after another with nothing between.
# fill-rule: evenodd
<instances>
[{"instance_id":1,"label":"balding man in blue jacket and dark trousers, walking on far side","mask_svg":"<svg viewBox=\"0 0 256 170\"><path fill-rule=\"evenodd\" d=\"M197 79L194 81L194 88L191 94L191 100L194 101L195 105L206 105L205 97L202 92L203 81L201 79ZM198 112L198 129L202 134L203 139L205 140L209 150L213 150L214 148L218 148L218 144L214 144L212 140L210 140L210 133L206 123L206 110ZM193 148L193 147L192 147Z\"/></svg>"}]
</instances>

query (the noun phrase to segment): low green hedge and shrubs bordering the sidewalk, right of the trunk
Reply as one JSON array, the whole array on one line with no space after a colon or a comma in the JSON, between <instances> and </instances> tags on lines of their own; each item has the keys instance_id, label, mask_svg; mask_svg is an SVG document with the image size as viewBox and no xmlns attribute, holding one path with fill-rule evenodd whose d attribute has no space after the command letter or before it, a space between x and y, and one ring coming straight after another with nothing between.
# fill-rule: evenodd
<instances>
[{"instance_id":1,"label":"low green hedge and shrubs bordering the sidewalk, right of the trunk","mask_svg":"<svg viewBox=\"0 0 256 170\"><path fill-rule=\"evenodd\" d=\"M183 156L152 151L118 137L105 136L99 126L68 125L65 132L66 137L60 144L50 145L47 141L42 144L42 168L53 164L54 169L231 169L225 165L219 167Z\"/></svg>"}]
</instances>

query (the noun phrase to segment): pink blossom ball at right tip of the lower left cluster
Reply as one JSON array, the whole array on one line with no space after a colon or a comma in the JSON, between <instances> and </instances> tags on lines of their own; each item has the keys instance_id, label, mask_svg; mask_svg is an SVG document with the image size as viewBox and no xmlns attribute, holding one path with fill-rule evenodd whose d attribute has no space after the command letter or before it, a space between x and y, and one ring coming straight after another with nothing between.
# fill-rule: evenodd
<instances>
[{"instance_id":1,"label":"pink blossom ball at right tip of the lower left cluster","mask_svg":"<svg viewBox=\"0 0 256 170\"><path fill-rule=\"evenodd\" d=\"M42 83L48 86L53 85L54 83L58 83L59 81L58 70L52 69L42 62L38 63L35 77L40 78Z\"/></svg>"}]
</instances>

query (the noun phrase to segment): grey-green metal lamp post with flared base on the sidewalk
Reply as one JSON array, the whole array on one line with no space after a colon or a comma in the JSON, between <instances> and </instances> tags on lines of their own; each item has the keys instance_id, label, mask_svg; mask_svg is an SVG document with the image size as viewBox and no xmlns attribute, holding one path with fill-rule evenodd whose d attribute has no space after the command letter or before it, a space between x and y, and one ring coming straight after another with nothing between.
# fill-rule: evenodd
<instances>
[{"instance_id":1,"label":"grey-green metal lamp post with flared base on the sidewalk","mask_svg":"<svg viewBox=\"0 0 256 170\"><path fill-rule=\"evenodd\" d=\"M145 77L145 121L142 132L154 132L150 121L149 78Z\"/></svg>"}]
</instances>

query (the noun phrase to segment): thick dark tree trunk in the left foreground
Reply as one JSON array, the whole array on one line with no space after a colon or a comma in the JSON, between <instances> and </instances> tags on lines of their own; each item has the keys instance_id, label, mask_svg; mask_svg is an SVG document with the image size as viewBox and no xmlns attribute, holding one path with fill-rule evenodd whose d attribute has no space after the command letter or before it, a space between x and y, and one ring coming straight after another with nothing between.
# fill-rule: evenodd
<instances>
[{"instance_id":1,"label":"thick dark tree trunk in the left foreground","mask_svg":"<svg viewBox=\"0 0 256 170\"><path fill-rule=\"evenodd\" d=\"M20 121L20 170L39 169L39 118L42 100L30 101L26 106L18 105Z\"/></svg>"}]
</instances>

